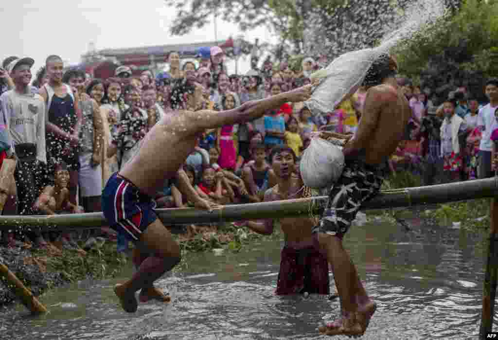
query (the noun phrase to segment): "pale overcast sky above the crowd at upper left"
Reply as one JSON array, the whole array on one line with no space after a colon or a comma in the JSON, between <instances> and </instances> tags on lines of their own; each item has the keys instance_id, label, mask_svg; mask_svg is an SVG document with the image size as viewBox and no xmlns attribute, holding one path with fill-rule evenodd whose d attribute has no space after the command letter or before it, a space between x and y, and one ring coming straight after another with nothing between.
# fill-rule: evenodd
<instances>
[{"instance_id":1,"label":"pale overcast sky above the crowd at upper left","mask_svg":"<svg viewBox=\"0 0 498 340\"><path fill-rule=\"evenodd\" d=\"M11 55L33 58L34 78L50 54L78 64L90 42L100 50L215 40L213 23L184 36L171 36L169 27L174 17L175 10L166 7L163 0L9 1L8 8L0 12L4 32L0 60ZM220 40L244 34L251 42L256 37L276 42L276 37L264 27L242 33L236 25L218 20L217 32ZM235 62L228 62L227 66L229 73L235 72ZM241 60L239 73L248 70L249 58Z\"/></svg>"}]
</instances>

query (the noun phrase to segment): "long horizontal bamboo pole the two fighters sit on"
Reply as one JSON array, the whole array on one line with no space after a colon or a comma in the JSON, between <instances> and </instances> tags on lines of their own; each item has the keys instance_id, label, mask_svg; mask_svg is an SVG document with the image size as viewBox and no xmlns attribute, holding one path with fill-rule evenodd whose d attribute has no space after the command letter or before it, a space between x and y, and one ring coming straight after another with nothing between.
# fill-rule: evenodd
<instances>
[{"instance_id":1,"label":"long horizontal bamboo pole the two fighters sit on","mask_svg":"<svg viewBox=\"0 0 498 340\"><path fill-rule=\"evenodd\" d=\"M414 207L427 204L458 202L498 196L498 179L456 182L418 188L388 190L379 193L363 206L365 210ZM273 201L263 203L223 206L205 210L157 209L165 225L221 223L251 219L281 218L319 214L327 197ZM52 216L0 216L0 230L13 227L37 227L41 230L69 228L95 228L107 225L102 213L68 214Z\"/></svg>"}]
</instances>

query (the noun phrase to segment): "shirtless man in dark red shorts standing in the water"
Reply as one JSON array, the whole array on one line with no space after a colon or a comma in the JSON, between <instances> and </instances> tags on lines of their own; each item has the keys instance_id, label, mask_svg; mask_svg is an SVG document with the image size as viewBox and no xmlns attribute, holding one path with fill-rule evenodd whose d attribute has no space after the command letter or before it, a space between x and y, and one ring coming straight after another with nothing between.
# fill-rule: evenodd
<instances>
[{"instance_id":1,"label":"shirtless man in dark red shorts standing in the water","mask_svg":"<svg viewBox=\"0 0 498 340\"><path fill-rule=\"evenodd\" d=\"M266 190L264 201L302 198L303 181L296 175L294 151L288 146L277 145L271 149L269 159L277 185ZM274 221L247 221L239 225L260 234L271 235ZM315 225L316 219L312 217L280 219L285 246L281 252L275 294L330 293L329 265L325 255L320 252L317 234L312 234Z\"/></svg>"}]
</instances>

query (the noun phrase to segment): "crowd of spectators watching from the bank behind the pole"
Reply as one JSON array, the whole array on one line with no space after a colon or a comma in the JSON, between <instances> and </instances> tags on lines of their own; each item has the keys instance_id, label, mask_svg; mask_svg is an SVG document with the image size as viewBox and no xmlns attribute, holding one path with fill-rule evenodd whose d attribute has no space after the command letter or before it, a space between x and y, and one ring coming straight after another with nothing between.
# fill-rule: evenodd
<instances>
[{"instance_id":1,"label":"crowd of spectators watching from the bank behind the pole","mask_svg":"<svg viewBox=\"0 0 498 340\"><path fill-rule=\"evenodd\" d=\"M230 110L311 83L310 75L325 65L313 58L300 67L286 61L266 61L245 75L228 74L220 47L208 49L199 60L181 62L169 55L169 71L154 75L120 66L115 77L92 79L79 69L64 70L51 55L31 82L31 58L6 58L0 73L1 159L15 158L17 167L3 215L53 215L99 212L103 186L136 153L147 131L166 113L181 109L175 86L191 83L202 90L197 110ZM407 79L399 79L413 116L406 136L389 159L389 168L422 175L424 184L492 176L498 81L484 90L490 103L479 103L462 85L448 98L430 97ZM330 113L313 115L303 103L284 104L250 123L207 130L184 165L198 194L219 204L260 202L275 184L267 162L269 150L287 144L299 157L314 131L355 133L367 90L360 88ZM178 113L181 114L181 113ZM497 126L495 126L497 125ZM168 147L168 146L165 146ZM160 150L158 150L160 157ZM175 187L157 188L158 208L183 208L190 203ZM70 226L68 226L70 227ZM108 227L96 237L115 240ZM71 233L42 233L12 226L2 232L6 246L30 240L37 247L59 240L76 247ZM119 242L120 249L126 244Z\"/></svg>"}]
</instances>

